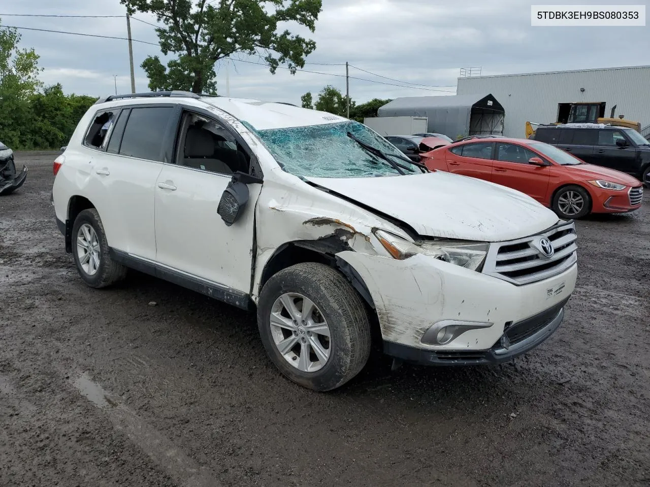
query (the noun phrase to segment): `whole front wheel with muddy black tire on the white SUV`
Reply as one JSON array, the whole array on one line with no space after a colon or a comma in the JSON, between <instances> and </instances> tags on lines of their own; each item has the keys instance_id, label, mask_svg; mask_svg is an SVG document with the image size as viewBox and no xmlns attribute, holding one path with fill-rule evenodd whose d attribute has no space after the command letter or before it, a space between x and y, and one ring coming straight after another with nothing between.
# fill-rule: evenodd
<instances>
[{"instance_id":1,"label":"whole front wheel with muddy black tire on the white SUV","mask_svg":"<svg viewBox=\"0 0 650 487\"><path fill-rule=\"evenodd\" d=\"M309 319L299 322L304 298L314 306ZM297 325L291 325L285 303L293 303ZM329 391L350 381L370 355L370 321L361 297L341 273L324 264L296 264L271 277L259 297L257 323L266 353L281 373L315 391ZM325 329L329 337L322 334ZM291 340L295 340L291 349L281 353L276 343L291 345Z\"/></svg>"}]
</instances>

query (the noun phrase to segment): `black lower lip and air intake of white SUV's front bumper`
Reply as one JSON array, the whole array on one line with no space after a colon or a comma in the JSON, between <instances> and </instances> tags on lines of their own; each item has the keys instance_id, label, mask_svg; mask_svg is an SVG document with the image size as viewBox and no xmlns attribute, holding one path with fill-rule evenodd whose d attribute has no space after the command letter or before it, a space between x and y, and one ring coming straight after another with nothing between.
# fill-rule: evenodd
<instances>
[{"instance_id":1,"label":"black lower lip and air intake of white SUV's front bumper","mask_svg":"<svg viewBox=\"0 0 650 487\"><path fill-rule=\"evenodd\" d=\"M513 323L499 342L488 350L422 350L398 343L384 342L383 351L407 362L421 365L461 366L508 362L537 347L560 327L568 299L531 318Z\"/></svg>"}]
</instances>

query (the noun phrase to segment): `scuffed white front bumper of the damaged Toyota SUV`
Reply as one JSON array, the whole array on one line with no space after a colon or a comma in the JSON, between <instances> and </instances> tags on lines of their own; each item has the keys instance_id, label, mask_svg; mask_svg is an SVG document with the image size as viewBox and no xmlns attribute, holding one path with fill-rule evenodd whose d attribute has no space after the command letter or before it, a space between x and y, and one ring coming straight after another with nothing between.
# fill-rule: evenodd
<instances>
[{"instance_id":1,"label":"scuffed white front bumper of the damaged Toyota SUV","mask_svg":"<svg viewBox=\"0 0 650 487\"><path fill-rule=\"evenodd\" d=\"M337 256L346 260L367 286L386 353L411 357L408 359L417 362L424 357L426 363L437 362L435 359L445 353L458 355L459 351L471 352L473 356L464 359L478 360L476 363L508 360L525 353L547 338L546 333L551 334L562 321L562 316L557 315L573 293L577 277L577 264L573 264L547 279L515 285L424 255L395 260L345 251ZM556 316L549 318L547 313L553 309ZM542 326L544 331L537 330L535 338L523 344L511 340L512 346L506 352L497 353L504 333L519 329L530 320L539 324L542 318L550 320ZM433 325L447 320L489 326L465 331L441 345L422 340ZM549 324L551 321L553 325Z\"/></svg>"}]
</instances>

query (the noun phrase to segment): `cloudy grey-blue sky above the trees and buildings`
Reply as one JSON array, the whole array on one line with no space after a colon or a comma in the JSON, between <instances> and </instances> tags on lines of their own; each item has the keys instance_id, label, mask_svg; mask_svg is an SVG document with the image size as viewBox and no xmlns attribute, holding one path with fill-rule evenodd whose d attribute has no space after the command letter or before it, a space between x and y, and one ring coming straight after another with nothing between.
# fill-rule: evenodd
<instances>
[{"instance_id":1,"label":"cloudy grey-blue sky above the trees and buildings","mask_svg":"<svg viewBox=\"0 0 650 487\"><path fill-rule=\"evenodd\" d=\"M122 18L6 15L122 15L125 10L119 0L3 3L2 25L126 36L126 22ZM326 84L344 92L345 67L332 65L346 61L400 81L350 68L350 77L357 78L350 79L350 97L362 103L374 97L454 94L459 69L470 66L481 66L486 75L650 64L650 27L531 27L530 5L530 1L524 0L323 0L316 32L306 32L317 42L317 49L307 62L318 64L306 64L305 69L329 75L298 72L292 76L283 69L271 75L264 66L231 62L226 68L222 63L218 66L218 90L226 94L227 72L231 96L299 103L300 95L307 91L316 93ZM135 17L155 22L146 14ZM131 29L134 39L157 43L150 25L133 20ZM129 92L127 42L20 32L21 46L34 47L40 55L40 66L44 68L41 79L45 84L60 82L68 93L102 95L114 92L117 75L118 92ZM146 56L159 54L159 49L157 45L135 42L133 54L136 90L146 91L146 75L139 65ZM379 82L415 83L428 89Z\"/></svg>"}]
</instances>

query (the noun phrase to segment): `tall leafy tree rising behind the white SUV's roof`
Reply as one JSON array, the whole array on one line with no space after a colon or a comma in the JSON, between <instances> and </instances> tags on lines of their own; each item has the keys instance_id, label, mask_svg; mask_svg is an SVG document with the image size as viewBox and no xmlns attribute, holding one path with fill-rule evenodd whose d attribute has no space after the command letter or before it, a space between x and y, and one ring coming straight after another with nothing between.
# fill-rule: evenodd
<instances>
[{"instance_id":1,"label":"tall leafy tree rising behind the white SUV's roof","mask_svg":"<svg viewBox=\"0 0 650 487\"><path fill-rule=\"evenodd\" d=\"M120 0L129 13L148 12L165 28L156 29L163 55L141 64L151 90L216 92L214 64L236 53L259 55L272 74L286 64L304 68L316 43L288 29L293 21L314 32L322 0ZM279 24L282 27L279 27Z\"/></svg>"}]
</instances>

